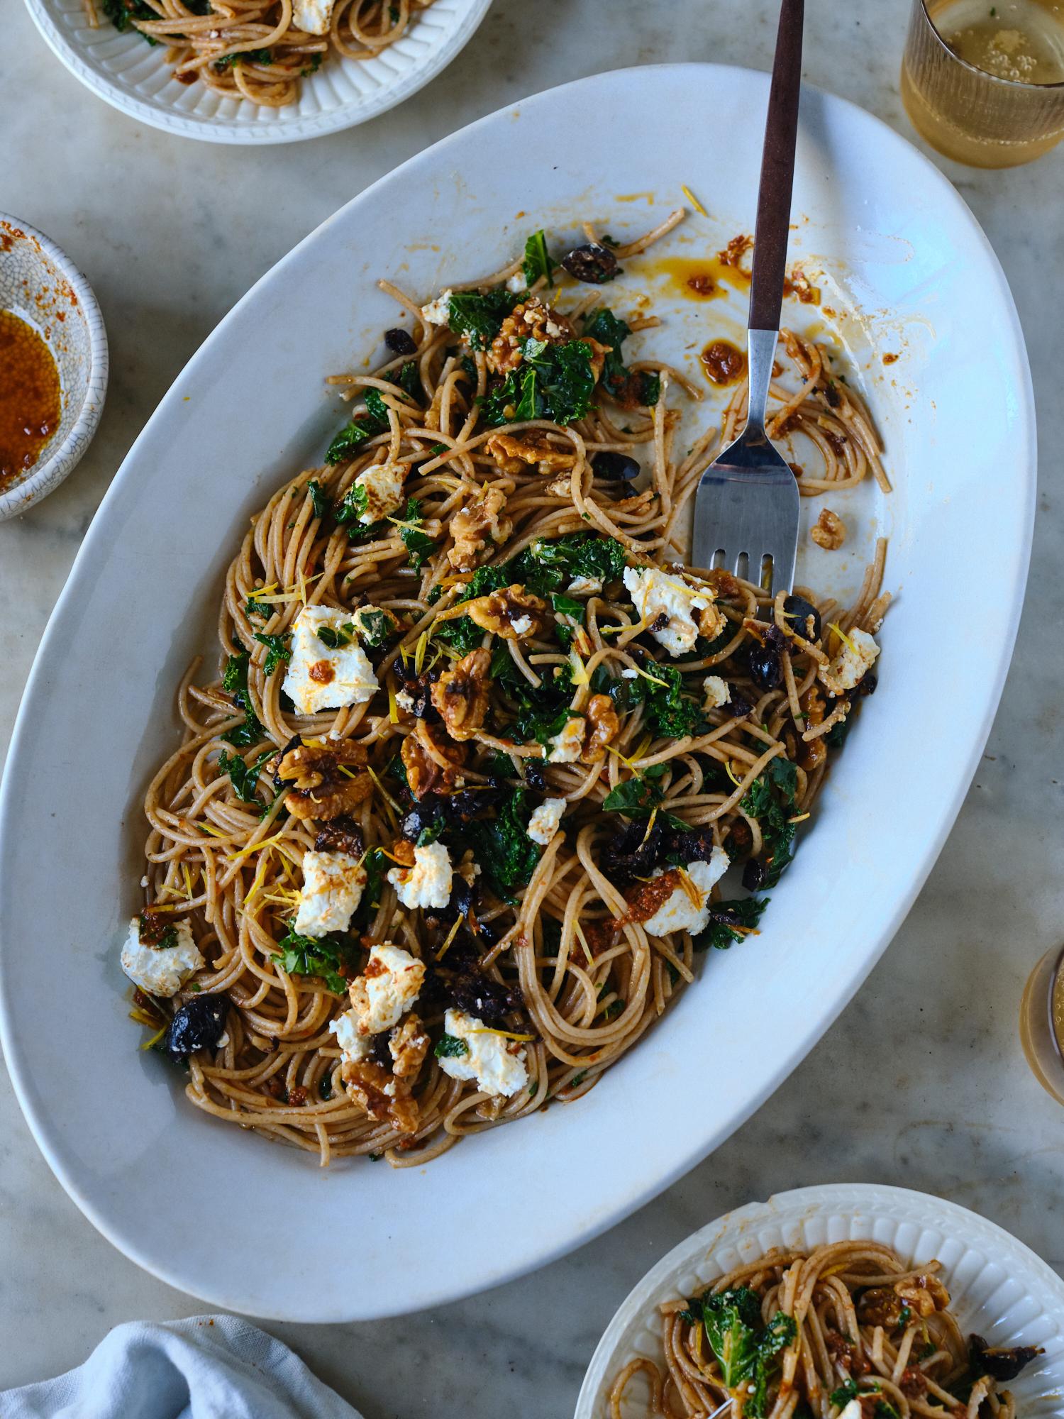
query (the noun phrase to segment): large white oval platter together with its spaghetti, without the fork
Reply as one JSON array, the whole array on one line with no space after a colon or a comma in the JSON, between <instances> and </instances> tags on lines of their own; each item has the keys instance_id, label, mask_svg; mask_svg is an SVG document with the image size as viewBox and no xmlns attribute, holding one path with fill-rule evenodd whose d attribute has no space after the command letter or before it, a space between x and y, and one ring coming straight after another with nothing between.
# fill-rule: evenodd
<instances>
[{"instance_id":1,"label":"large white oval platter together with its spaghetti, without the fork","mask_svg":"<svg viewBox=\"0 0 1064 1419\"><path fill-rule=\"evenodd\" d=\"M604 136L542 192L505 160L522 125L560 145L631 84L671 116L623 177ZM804 1054L959 806L1030 538L1007 289L933 169L811 92L772 409L797 585L692 566L691 497L745 409L756 172L753 150L660 172L706 84L763 104L762 77L714 67L583 81L308 237L153 416L50 626L0 802L4 1047L89 1218L211 1303L413 1310L610 1225ZM874 187L870 150L894 175ZM441 162L480 187L434 189L426 240L400 236ZM987 326L993 368L972 353ZM966 497L1004 440L1026 450L1012 481ZM943 583L980 546L993 595ZM945 705L911 666L951 596L982 631L977 667L936 646ZM87 694L106 712L78 712ZM38 790L75 739L65 812L94 833L50 893ZM27 931L55 945L16 951ZM43 1093L26 1022L60 961L98 1023ZM706 1039L731 1061L712 1100L685 1063ZM118 1107L88 1107L98 1090ZM204 1172L319 1222L223 1209L176 1244L159 1209ZM353 1271L329 1240L352 1206Z\"/></svg>"}]
</instances>

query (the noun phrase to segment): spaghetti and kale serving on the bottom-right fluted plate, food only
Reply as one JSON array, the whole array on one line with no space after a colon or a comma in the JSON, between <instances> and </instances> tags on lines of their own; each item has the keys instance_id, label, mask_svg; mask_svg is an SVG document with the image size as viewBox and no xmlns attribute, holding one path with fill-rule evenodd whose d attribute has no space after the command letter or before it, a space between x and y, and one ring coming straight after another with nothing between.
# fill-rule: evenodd
<instances>
[{"instance_id":1,"label":"spaghetti and kale serving on the bottom-right fluted plate, food only","mask_svg":"<svg viewBox=\"0 0 1064 1419\"><path fill-rule=\"evenodd\" d=\"M875 1242L772 1250L661 1307L664 1366L630 1361L611 1419L1014 1419L1000 1385L1041 1351L966 1341L939 1270Z\"/></svg>"}]
</instances>

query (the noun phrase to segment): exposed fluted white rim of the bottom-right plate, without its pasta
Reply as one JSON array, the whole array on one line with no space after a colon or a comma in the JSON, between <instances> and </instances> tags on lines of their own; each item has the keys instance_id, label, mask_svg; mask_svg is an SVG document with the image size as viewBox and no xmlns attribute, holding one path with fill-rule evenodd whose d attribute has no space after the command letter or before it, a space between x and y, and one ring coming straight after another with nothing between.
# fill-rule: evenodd
<instances>
[{"instance_id":1,"label":"exposed fluted white rim of the bottom-right plate, without its pasta","mask_svg":"<svg viewBox=\"0 0 1064 1419\"><path fill-rule=\"evenodd\" d=\"M1064 1281L1023 1242L968 1208L908 1188L863 1182L780 1192L726 1212L647 1271L606 1327L587 1366L575 1419L610 1419L609 1393L628 1361L664 1371L658 1307L688 1297L770 1247L870 1240L894 1247L914 1266L938 1259L951 1310L965 1335L992 1345L1046 1351L1010 1381L1024 1419L1060 1415L1064 1393ZM643 1379L624 1392L623 1419L647 1419Z\"/></svg>"}]
</instances>

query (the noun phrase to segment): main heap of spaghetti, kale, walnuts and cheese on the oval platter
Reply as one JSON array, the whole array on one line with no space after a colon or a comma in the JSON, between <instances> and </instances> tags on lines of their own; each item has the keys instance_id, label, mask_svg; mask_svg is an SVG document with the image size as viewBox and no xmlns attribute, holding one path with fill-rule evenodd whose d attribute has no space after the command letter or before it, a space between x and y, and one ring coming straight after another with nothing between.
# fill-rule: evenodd
<instances>
[{"instance_id":1,"label":"main heap of spaghetti, kale, walnuts and cheese on the oval platter","mask_svg":"<svg viewBox=\"0 0 1064 1419\"><path fill-rule=\"evenodd\" d=\"M875 688L885 545L848 609L682 563L718 436L602 292L654 236L387 287L411 329L230 565L122 954L220 1120L424 1162L586 1094L758 931Z\"/></svg>"}]
</instances>

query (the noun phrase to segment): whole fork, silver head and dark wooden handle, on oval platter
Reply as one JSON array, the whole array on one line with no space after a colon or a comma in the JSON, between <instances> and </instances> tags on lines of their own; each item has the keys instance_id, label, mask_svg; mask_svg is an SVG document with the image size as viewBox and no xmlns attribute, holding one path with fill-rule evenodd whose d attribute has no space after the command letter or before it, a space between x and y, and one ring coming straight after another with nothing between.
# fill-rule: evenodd
<instances>
[{"instance_id":1,"label":"whole fork, silver head and dark wooden handle, on oval platter","mask_svg":"<svg viewBox=\"0 0 1064 1419\"><path fill-rule=\"evenodd\" d=\"M699 480L692 546L695 566L724 566L773 593L780 587L790 590L794 585L802 501L794 474L765 431L765 416L787 264L803 16L804 0L783 0L772 65L750 274L746 427Z\"/></svg>"}]
</instances>

